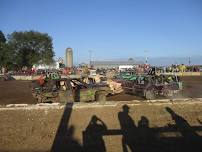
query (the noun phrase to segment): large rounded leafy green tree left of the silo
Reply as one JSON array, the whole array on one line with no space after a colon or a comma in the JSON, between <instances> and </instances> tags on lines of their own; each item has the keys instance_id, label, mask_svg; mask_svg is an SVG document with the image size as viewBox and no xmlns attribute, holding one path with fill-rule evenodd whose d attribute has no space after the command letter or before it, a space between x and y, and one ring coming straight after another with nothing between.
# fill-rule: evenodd
<instances>
[{"instance_id":1,"label":"large rounded leafy green tree left of the silo","mask_svg":"<svg viewBox=\"0 0 202 152\"><path fill-rule=\"evenodd\" d=\"M52 39L46 33L36 31L13 32L8 37L8 44L14 52L13 61L18 67L31 67L33 64L53 63Z\"/></svg>"}]
</instances>

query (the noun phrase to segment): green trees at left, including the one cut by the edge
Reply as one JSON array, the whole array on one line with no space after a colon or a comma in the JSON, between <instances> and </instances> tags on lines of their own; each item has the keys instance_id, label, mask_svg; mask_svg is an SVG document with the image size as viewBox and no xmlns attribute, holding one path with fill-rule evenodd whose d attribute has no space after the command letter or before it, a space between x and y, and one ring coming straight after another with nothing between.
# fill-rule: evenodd
<instances>
[{"instance_id":1,"label":"green trees at left, including the one cut by the edge","mask_svg":"<svg viewBox=\"0 0 202 152\"><path fill-rule=\"evenodd\" d=\"M47 33L20 31L5 37L0 31L0 68L31 68L34 64L53 63L52 38Z\"/></svg>"}]
</instances>

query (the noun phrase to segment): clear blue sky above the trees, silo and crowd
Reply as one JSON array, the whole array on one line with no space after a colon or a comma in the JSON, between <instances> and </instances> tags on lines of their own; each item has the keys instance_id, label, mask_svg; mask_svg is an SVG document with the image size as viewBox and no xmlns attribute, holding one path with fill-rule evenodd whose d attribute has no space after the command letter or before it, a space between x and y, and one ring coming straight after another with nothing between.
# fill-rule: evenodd
<instances>
[{"instance_id":1,"label":"clear blue sky above the trees, silo and crowd","mask_svg":"<svg viewBox=\"0 0 202 152\"><path fill-rule=\"evenodd\" d=\"M75 63L202 55L202 0L0 0L0 30L35 30ZM147 50L147 53L145 53Z\"/></svg>"}]
</instances>

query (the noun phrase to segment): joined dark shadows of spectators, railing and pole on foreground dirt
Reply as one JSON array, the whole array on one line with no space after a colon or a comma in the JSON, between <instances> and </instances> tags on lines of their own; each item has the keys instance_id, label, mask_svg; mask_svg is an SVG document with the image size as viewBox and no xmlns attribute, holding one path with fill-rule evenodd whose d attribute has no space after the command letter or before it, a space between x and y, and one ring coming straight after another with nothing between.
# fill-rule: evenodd
<instances>
[{"instance_id":1,"label":"joined dark shadows of spectators, railing and pole on foreground dirt","mask_svg":"<svg viewBox=\"0 0 202 152\"><path fill-rule=\"evenodd\" d=\"M80 145L72 138L74 127L66 126L71 111L65 110L52 151L106 152L103 137L119 135L122 136L123 152L201 152L202 137L197 134L197 131L202 131L202 126L191 126L182 116L169 107L165 107L165 110L175 124L150 128L149 119L142 115L136 125L129 115L129 110L129 106L123 105L122 111L117 114L120 129L107 129L107 124L96 115L93 115L88 126L83 131L83 145ZM199 123L201 122L199 121Z\"/></svg>"}]
</instances>

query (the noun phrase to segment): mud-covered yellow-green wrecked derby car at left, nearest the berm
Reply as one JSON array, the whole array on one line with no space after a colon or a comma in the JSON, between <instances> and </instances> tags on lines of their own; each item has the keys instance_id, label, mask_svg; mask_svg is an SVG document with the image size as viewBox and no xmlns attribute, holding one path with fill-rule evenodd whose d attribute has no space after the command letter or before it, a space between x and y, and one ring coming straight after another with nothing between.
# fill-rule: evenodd
<instances>
[{"instance_id":1,"label":"mud-covered yellow-green wrecked derby car at left, nearest the berm","mask_svg":"<svg viewBox=\"0 0 202 152\"><path fill-rule=\"evenodd\" d=\"M41 79L32 83L32 94L38 102L106 101L110 93L106 84L87 84L76 78Z\"/></svg>"}]
</instances>

